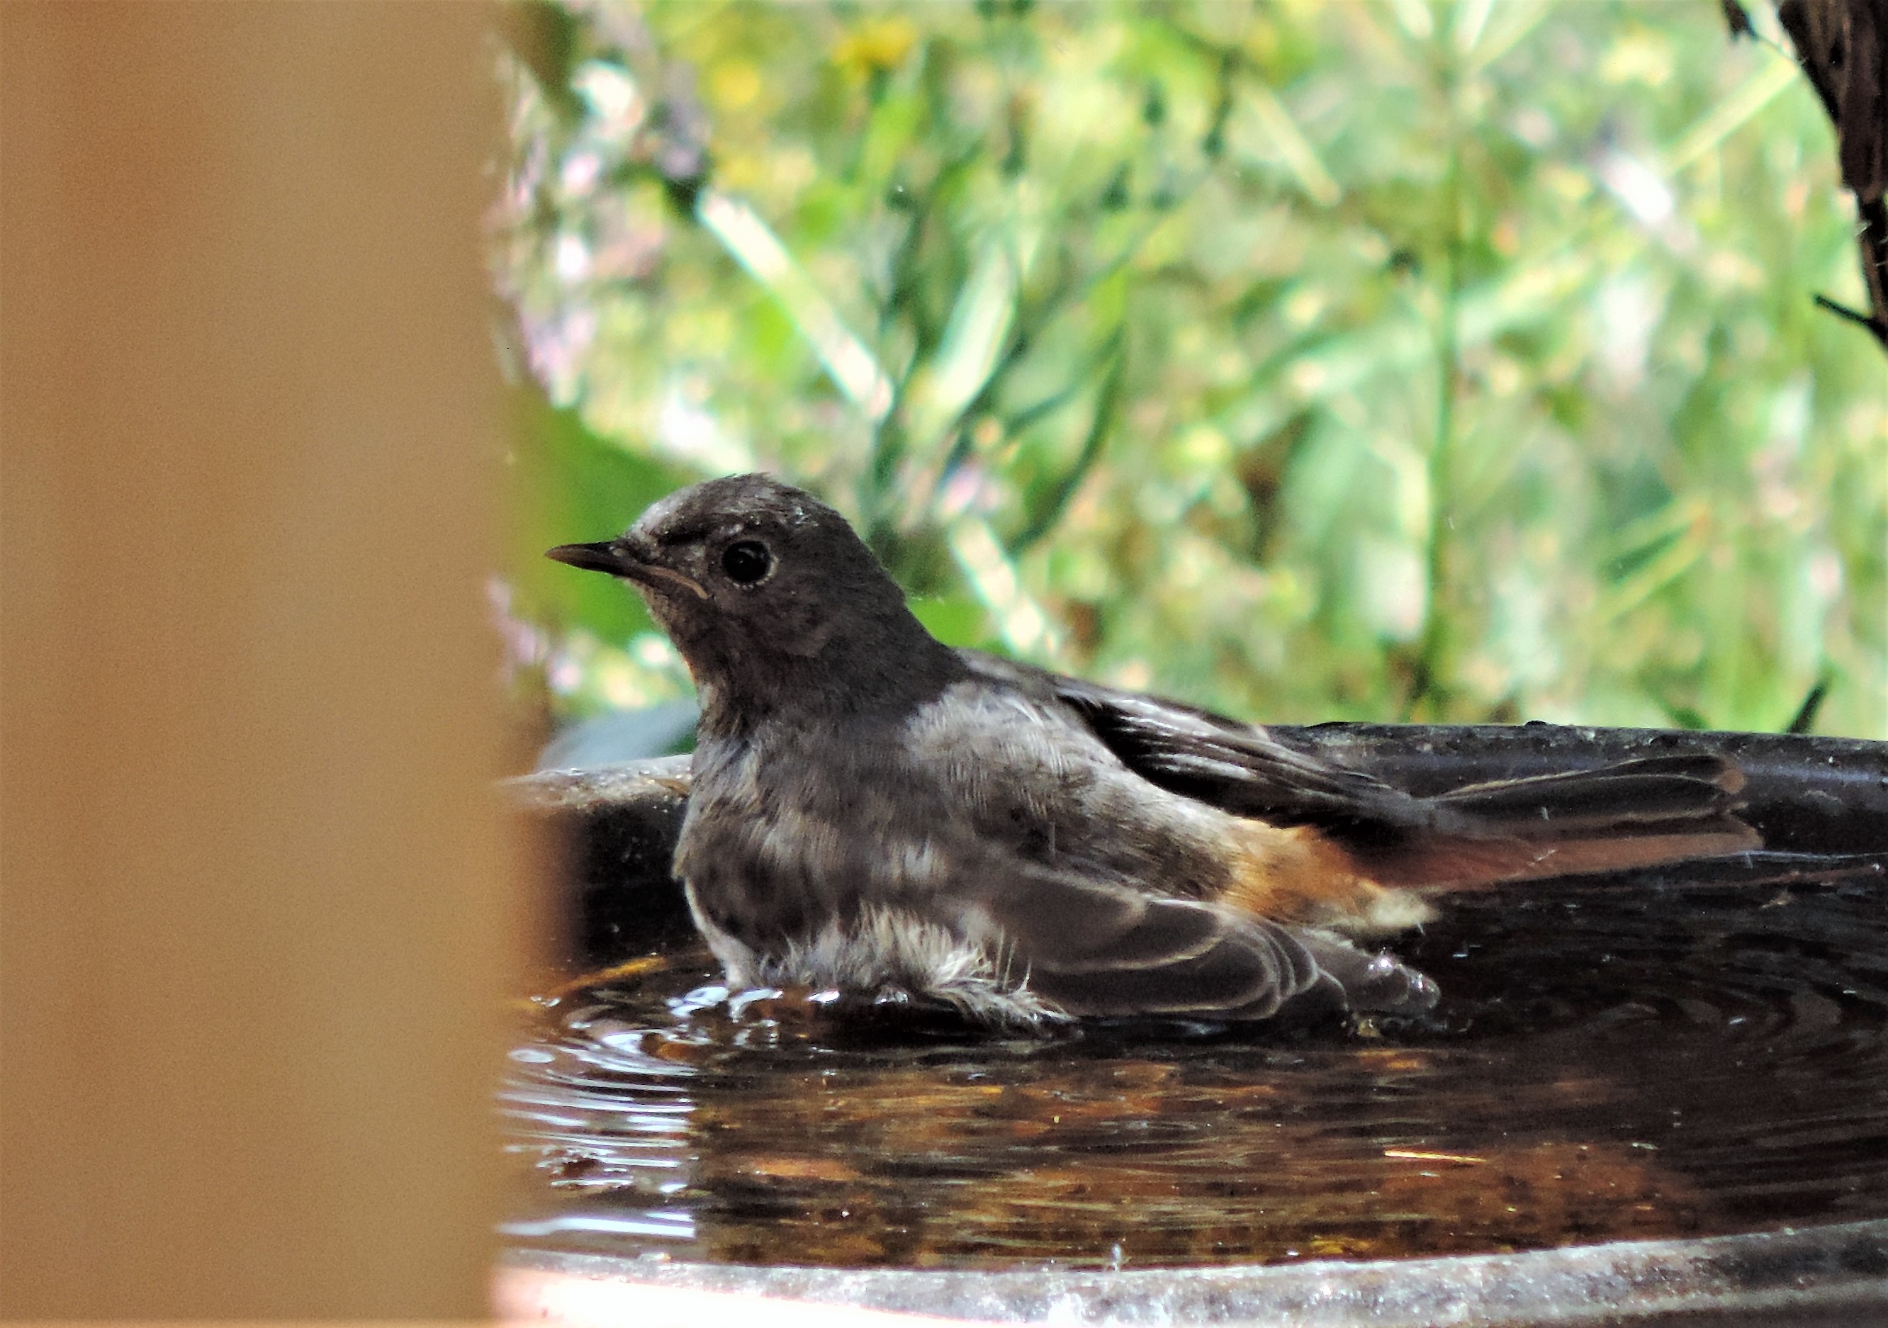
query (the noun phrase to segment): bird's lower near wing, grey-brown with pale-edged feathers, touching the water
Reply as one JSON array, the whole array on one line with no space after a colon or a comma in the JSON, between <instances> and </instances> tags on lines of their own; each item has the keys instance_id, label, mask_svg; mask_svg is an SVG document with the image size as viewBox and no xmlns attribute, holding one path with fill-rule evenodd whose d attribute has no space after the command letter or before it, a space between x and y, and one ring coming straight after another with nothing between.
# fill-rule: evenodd
<instances>
[{"instance_id":1,"label":"bird's lower near wing, grey-brown with pale-edged feathers, touching the water","mask_svg":"<svg viewBox=\"0 0 1888 1328\"><path fill-rule=\"evenodd\" d=\"M1046 869L991 880L997 948L1070 1014L1269 1018L1295 1011L1424 1011L1435 984L1323 931Z\"/></svg>"}]
</instances>

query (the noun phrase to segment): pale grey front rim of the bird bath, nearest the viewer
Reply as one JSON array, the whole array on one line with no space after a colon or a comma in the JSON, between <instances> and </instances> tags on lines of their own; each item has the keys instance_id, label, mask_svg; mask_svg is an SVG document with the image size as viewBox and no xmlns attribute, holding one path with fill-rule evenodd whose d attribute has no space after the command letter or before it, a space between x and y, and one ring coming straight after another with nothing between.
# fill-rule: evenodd
<instances>
[{"instance_id":1,"label":"pale grey front rim of the bird bath, nearest the viewer","mask_svg":"<svg viewBox=\"0 0 1888 1328\"><path fill-rule=\"evenodd\" d=\"M695 1322L1839 1324L1888 1317L1888 1220L1518 1254L1176 1269L785 1268L512 1252L502 1319ZM778 1319L774 1317L778 1311Z\"/></svg>"}]
</instances>

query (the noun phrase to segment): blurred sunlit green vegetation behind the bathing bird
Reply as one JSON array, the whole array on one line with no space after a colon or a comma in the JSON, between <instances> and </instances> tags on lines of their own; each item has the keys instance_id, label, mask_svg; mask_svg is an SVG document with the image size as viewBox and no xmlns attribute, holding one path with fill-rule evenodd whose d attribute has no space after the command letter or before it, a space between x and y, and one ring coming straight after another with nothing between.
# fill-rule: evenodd
<instances>
[{"instance_id":1,"label":"blurred sunlit green vegetation behind the bathing bird","mask_svg":"<svg viewBox=\"0 0 1888 1328\"><path fill-rule=\"evenodd\" d=\"M495 597L557 718L689 682L542 550L765 468L946 640L1246 718L1888 737L1852 200L1714 0L510 17Z\"/></svg>"}]
</instances>

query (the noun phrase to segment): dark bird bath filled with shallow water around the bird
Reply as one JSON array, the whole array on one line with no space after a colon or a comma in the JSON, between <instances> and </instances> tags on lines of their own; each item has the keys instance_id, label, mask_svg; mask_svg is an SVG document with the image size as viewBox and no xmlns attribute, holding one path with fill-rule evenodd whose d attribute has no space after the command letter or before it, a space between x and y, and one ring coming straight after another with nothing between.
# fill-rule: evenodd
<instances>
[{"instance_id":1,"label":"dark bird bath filled with shallow water around the bird","mask_svg":"<svg viewBox=\"0 0 1888 1328\"><path fill-rule=\"evenodd\" d=\"M1444 994L1416 1022L1004 1041L727 994L665 867L685 763L531 776L572 958L632 963L542 999L512 1052L500 1309L1888 1313L1888 748L1282 733L1410 786L1712 744L1780 852L1456 899L1397 945Z\"/></svg>"}]
</instances>

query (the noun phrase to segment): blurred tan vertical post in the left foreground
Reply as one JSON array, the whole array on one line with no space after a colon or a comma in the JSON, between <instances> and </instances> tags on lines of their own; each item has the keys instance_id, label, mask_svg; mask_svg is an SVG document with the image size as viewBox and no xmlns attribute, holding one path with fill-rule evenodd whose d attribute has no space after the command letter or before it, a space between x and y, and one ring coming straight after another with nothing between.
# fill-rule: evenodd
<instances>
[{"instance_id":1,"label":"blurred tan vertical post in the left foreground","mask_svg":"<svg viewBox=\"0 0 1888 1328\"><path fill-rule=\"evenodd\" d=\"M489 21L0 8L0 1319L487 1313Z\"/></svg>"}]
</instances>

